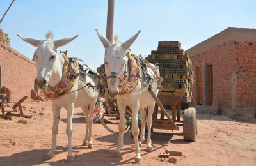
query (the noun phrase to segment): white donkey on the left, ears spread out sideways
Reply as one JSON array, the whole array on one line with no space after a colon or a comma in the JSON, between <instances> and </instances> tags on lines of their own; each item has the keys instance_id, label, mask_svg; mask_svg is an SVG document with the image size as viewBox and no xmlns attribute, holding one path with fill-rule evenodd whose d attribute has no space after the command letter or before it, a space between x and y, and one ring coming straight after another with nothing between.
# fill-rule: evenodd
<instances>
[{"instance_id":1,"label":"white donkey on the left, ears spread out sideways","mask_svg":"<svg viewBox=\"0 0 256 166\"><path fill-rule=\"evenodd\" d=\"M66 45L70 41L74 40L77 36L73 38L63 38L60 40L53 40L51 32L48 32L45 37L46 40L37 40L33 38L24 38L18 34L22 40L30 43L31 45L38 47L35 50L34 57L37 66L37 76L35 78L35 83L43 91L47 89L54 89L54 87L60 85L59 82L63 79L63 65L67 63L65 58L60 54L58 47ZM77 59L71 59L74 61ZM77 64L76 64L77 65ZM67 65L66 65L67 66ZM69 66L71 68L71 66ZM68 70L71 70L67 67ZM90 67L89 67L90 68ZM90 68L93 70L93 68ZM97 72L96 72L97 73ZM71 80L76 78L76 82L73 84L72 89L65 92L64 95L61 94L60 98L52 100L52 110L53 110L53 125L52 125L52 146L51 150L47 153L46 158L50 159L54 156L54 151L56 150L56 139L58 133L58 124L60 120L60 109L64 107L67 110L67 128L66 133L68 136L68 155L67 162L74 161L74 156L72 155L72 117L74 107L81 107L86 119L86 135L83 140L83 145L88 145L89 148L93 148L92 143L92 123L93 120L90 119L93 115L95 108L95 102L99 91L95 88L95 85L99 81L97 75L92 75L88 73L79 73L73 75L73 77L68 77ZM62 82L63 83L63 82ZM63 90L61 87L60 90ZM55 92L55 91L54 91ZM58 96L59 93L56 93ZM55 95L55 94L54 94ZM88 112L89 105L89 112ZM88 114L89 113L89 114ZM90 115L90 116L89 116Z\"/></svg>"}]
</instances>

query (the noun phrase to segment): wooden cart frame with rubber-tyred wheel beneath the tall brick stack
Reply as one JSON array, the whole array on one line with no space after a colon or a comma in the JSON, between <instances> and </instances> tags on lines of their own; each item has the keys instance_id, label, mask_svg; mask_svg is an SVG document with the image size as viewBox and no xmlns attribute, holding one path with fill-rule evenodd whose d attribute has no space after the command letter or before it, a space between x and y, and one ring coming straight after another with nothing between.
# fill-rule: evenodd
<instances>
[{"instance_id":1,"label":"wooden cart frame with rubber-tyred wheel beneath the tall brick stack","mask_svg":"<svg viewBox=\"0 0 256 166\"><path fill-rule=\"evenodd\" d=\"M188 103L191 101L189 96L158 96L148 88L149 93L156 100L156 107L152 116L153 123L152 128L164 129L164 130L179 130L180 126L183 126L184 140L195 141L197 134L196 124L196 110L191 107L184 110L183 120L180 120L181 103ZM172 106L172 116L164 109L165 105ZM158 107L161 109L160 119L157 119ZM164 117L167 119L164 119Z\"/></svg>"}]
</instances>

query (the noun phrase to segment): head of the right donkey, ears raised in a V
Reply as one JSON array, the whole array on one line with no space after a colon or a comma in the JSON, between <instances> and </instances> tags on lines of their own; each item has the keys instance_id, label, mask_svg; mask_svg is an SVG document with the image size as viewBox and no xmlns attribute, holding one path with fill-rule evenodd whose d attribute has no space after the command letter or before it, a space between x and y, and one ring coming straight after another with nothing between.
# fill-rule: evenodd
<instances>
[{"instance_id":1,"label":"head of the right donkey, ears raised in a V","mask_svg":"<svg viewBox=\"0 0 256 166\"><path fill-rule=\"evenodd\" d=\"M106 55L104 57L105 73L108 82L108 95L110 98L115 98L119 93L118 87L120 85L120 77L122 77L125 64L127 64L128 57L125 55L129 47L136 40L140 31L137 34L129 38L124 43L119 43L118 37L115 37L115 44L112 44L108 39L103 36L98 29L96 29L100 41L103 43L106 49Z\"/></svg>"}]
</instances>

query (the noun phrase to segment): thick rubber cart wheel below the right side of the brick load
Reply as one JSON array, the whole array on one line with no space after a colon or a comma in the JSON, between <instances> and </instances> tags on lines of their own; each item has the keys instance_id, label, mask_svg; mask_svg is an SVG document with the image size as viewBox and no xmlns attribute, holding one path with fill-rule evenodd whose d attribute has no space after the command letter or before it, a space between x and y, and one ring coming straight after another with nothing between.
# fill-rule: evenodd
<instances>
[{"instance_id":1,"label":"thick rubber cart wheel below the right side of the brick load","mask_svg":"<svg viewBox=\"0 0 256 166\"><path fill-rule=\"evenodd\" d=\"M186 141L194 142L196 140L196 134L196 109L190 107L184 110L183 138Z\"/></svg>"}]
</instances>

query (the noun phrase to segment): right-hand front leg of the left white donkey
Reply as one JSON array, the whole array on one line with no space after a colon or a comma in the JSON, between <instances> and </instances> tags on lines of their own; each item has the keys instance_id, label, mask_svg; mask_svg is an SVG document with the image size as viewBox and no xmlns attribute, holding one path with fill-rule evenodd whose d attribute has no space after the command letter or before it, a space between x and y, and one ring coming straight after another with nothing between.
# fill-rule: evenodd
<instances>
[{"instance_id":1,"label":"right-hand front leg of the left white donkey","mask_svg":"<svg viewBox=\"0 0 256 166\"><path fill-rule=\"evenodd\" d=\"M72 120L73 120L73 111L74 111L74 103L72 105L68 105L66 108L67 110L67 127L66 127L66 134L68 136L68 155L67 155L67 162L73 162L74 156L72 155L73 147L71 142L72 137Z\"/></svg>"}]
</instances>

